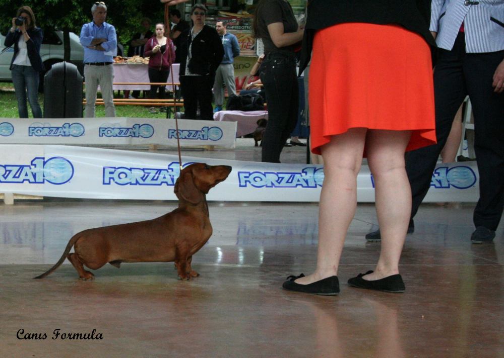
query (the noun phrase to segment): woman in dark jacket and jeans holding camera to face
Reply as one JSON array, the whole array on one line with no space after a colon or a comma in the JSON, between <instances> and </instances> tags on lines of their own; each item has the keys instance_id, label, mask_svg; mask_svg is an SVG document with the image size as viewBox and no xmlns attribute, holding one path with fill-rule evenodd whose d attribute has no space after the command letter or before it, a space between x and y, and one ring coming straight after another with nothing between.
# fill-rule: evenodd
<instances>
[{"instance_id":1,"label":"woman in dark jacket and jeans holding camera to face","mask_svg":"<svg viewBox=\"0 0 504 358\"><path fill-rule=\"evenodd\" d=\"M31 8L28 6L19 8L16 17L12 19L12 27L7 33L4 45L6 47L14 45L10 69L20 118L28 118L27 98L33 118L43 118L38 103L39 72L44 70L40 58L42 38L43 32L36 27L35 15Z\"/></svg>"}]
</instances>

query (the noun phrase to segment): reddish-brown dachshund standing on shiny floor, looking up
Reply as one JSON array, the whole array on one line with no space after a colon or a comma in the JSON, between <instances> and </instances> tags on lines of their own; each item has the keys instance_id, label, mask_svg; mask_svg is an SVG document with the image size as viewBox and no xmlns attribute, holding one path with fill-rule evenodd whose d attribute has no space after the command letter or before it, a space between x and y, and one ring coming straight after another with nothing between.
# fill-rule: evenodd
<instances>
[{"instance_id":1,"label":"reddish-brown dachshund standing on shiny floor, looking up","mask_svg":"<svg viewBox=\"0 0 504 358\"><path fill-rule=\"evenodd\" d=\"M65 258L72 262L81 280L94 280L83 265L97 270L107 262L119 268L122 262L175 261L179 279L199 276L191 268L191 260L212 235L206 194L230 172L227 165L188 165L175 182L177 209L152 220L81 231L70 239L59 261L35 279L52 273ZM75 252L69 253L72 246Z\"/></svg>"}]
</instances>

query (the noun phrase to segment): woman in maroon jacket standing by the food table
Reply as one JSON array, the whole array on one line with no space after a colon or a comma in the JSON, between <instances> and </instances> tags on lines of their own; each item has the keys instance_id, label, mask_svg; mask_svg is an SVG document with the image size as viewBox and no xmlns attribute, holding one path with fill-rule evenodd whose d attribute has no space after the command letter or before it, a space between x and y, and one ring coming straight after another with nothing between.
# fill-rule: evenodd
<instances>
[{"instance_id":1,"label":"woman in maroon jacket standing by the food table","mask_svg":"<svg viewBox=\"0 0 504 358\"><path fill-rule=\"evenodd\" d=\"M164 36L164 24L156 24L156 36L151 37L144 48L144 56L149 59L149 81L167 82L170 66L175 60L173 42ZM165 86L151 85L149 98L154 99L159 88L159 98L165 98ZM153 110L154 108L151 108Z\"/></svg>"}]
</instances>

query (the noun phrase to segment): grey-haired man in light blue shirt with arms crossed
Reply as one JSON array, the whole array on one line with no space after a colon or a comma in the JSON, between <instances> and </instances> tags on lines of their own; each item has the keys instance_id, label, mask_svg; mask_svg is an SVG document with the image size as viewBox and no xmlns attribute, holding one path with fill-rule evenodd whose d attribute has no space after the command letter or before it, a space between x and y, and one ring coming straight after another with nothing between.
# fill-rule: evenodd
<instances>
[{"instance_id":1,"label":"grey-haired man in light blue shirt with arms crossed","mask_svg":"<svg viewBox=\"0 0 504 358\"><path fill-rule=\"evenodd\" d=\"M117 36L115 28L107 24L107 7L103 2L96 2L91 7L93 21L84 24L81 30L81 45L84 47L84 77L86 78L85 117L95 116L95 103L98 85L105 104L105 115L115 117L112 79L112 63L117 54Z\"/></svg>"}]
</instances>

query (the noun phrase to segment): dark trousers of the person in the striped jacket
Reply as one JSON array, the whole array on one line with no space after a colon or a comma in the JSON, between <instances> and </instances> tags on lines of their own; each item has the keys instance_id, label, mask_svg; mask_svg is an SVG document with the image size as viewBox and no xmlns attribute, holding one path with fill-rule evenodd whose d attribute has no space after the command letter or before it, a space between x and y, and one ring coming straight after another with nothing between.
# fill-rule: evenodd
<instances>
[{"instance_id":1,"label":"dark trousers of the person in the striped jacket","mask_svg":"<svg viewBox=\"0 0 504 358\"><path fill-rule=\"evenodd\" d=\"M469 95L474 114L474 151L479 171L479 200L474 225L495 230L504 208L504 94L493 92L492 77L504 51L466 53L460 33L451 51L438 49L434 68L437 144L406 155L411 184L411 218L430 187L432 172L445 146L453 119Z\"/></svg>"}]
</instances>

